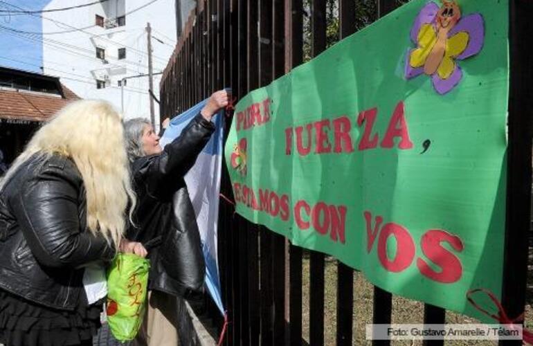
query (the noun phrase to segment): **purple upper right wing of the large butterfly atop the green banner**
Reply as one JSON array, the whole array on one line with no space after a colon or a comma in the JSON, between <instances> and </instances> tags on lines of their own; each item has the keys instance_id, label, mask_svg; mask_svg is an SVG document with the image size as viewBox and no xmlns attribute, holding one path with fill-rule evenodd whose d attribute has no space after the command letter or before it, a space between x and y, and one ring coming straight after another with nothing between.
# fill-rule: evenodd
<instances>
[{"instance_id":1,"label":"purple upper right wing of the large butterfly atop the green banner","mask_svg":"<svg viewBox=\"0 0 533 346\"><path fill-rule=\"evenodd\" d=\"M479 13L473 13L462 17L458 24L450 30L448 37L452 37L460 32L467 33L469 35L469 41L464 52L455 57L455 59L463 60L478 54L485 42L485 21L483 20L483 16Z\"/></svg>"}]
</instances>

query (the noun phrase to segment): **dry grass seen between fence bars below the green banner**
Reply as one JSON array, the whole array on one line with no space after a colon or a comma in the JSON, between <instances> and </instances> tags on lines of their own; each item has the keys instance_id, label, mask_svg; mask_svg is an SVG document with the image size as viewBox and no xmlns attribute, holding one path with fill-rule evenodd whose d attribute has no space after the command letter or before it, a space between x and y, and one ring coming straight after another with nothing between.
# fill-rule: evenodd
<instances>
[{"instance_id":1,"label":"dry grass seen between fence bars below the green banner","mask_svg":"<svg viewBox=\"0 0 533 346\"><path fill-rule=\"evenodd\" d=\"M324 299L324 345L336 345L336 260L326 257L325 260L325 299ZM304 256L302 264L302 337L309 343L309 258ZM530 271L531 273L532 271ZM533 274L532 280L533 282ZM354 274L354 325L353 345L371 345L370 340L365 340L365 325L372 323L372 300L374 287L365 280L359 272ZM530 300L529 300L530 301ZM533 327L533 309L528 303L526 306L526 327ZM424 321L424 304L393 295L392 298L392 323L418 324ZM469 318L459 313L446 311L446 323L478 323L478 320ZM422 341L394 340L392 345L422 345ZM489 340L445 340L445 345L497 345Z\"/></svg>"}]
</instances>

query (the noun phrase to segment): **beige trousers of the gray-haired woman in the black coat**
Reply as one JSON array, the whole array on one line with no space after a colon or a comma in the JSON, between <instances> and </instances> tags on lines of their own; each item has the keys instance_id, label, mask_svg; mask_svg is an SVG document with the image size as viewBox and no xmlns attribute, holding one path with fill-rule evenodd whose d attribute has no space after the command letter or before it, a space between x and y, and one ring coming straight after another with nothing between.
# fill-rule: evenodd
<instances>
[{"instance_id":1,"label":"beige trousers of the gray-haired woman in the black coat","mask_svg":"<svg viewBox=\"0 0 533 346\"><path fill-rule=\"evenodd\" d=\"M132 346L178 346L177 298L160 291L148 292L141 330Z\"/></svg>"}]
</instances>

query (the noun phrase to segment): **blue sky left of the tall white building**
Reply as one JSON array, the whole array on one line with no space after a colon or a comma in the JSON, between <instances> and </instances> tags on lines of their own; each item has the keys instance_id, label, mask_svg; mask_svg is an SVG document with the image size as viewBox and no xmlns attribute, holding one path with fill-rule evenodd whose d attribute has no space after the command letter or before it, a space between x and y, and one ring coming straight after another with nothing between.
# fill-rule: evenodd
<instances>
[{"instance_id":1,"label":"blue sky left of the tall white building","mask_svg":"<svg viewBox=\"0 0 533 346\"><path fill-rule=\"evenodd\" d=\"M50 0L6 0L0 1L0 10L42 10ZM12 5L12 6L10 6ZM21 34L11 33L6 28L30 32L42 32L42 19L39 15L10 15L0 12L0 66L25 71L42 72L42 44L37 39L23 38Z\"/></svg>"}]
</instances>

